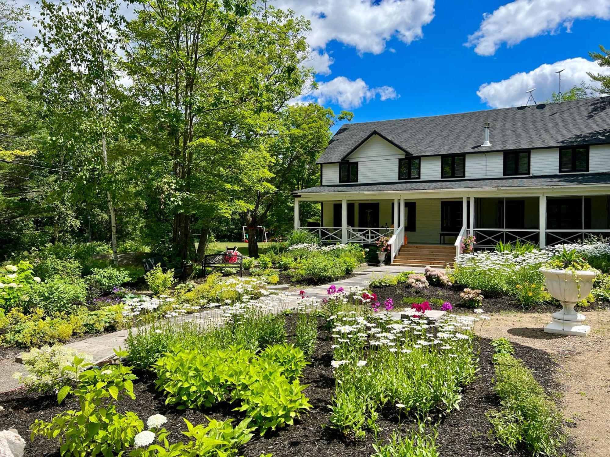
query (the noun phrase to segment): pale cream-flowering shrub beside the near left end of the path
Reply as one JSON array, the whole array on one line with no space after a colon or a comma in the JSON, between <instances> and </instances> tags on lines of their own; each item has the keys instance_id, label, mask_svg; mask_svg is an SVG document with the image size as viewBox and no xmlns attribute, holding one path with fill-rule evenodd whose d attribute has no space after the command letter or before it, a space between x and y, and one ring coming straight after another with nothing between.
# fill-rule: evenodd
<instances>
[{"instance_id":1,"label":"pale cream-flowering shrub beside the near left end of the path","mask_svg":"<svg viewBox=\"0 0 610 457\"><path fill-rule=\"evenodd\" d=\"M66 384L76 381L84 364L92 361L90 355L60 344L32 349L23 353L21 359L28 373L15 373L13 377L27 390L43 394L56 393ZM64 367L73 367L74 370L63 371Z\"/></svg>"}]
</instances>

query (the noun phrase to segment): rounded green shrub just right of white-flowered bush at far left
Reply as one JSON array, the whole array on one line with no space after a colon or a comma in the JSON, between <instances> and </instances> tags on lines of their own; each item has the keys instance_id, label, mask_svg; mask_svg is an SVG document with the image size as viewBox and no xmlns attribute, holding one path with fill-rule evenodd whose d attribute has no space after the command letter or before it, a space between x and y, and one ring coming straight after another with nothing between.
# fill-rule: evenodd
<instances>
[{"instance_id":1,"label":"rounded green shrub just right of white-flowered bush at far left","mask_svg":"<svg viewBox=\"0 0 610 457\"><path fill-rule=\"evenodd\" d=\"M33 283L27 288L29 308L41 308L47 316L74 313L87 299L87 286L81 278L54 276L47 282Z\"/></svg>"}]
</instances>

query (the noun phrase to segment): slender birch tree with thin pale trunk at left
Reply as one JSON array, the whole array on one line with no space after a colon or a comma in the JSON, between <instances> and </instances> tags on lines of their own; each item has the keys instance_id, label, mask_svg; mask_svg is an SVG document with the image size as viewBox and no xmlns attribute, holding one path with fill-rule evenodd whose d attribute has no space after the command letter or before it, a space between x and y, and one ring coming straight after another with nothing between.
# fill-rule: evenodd
<instances>
[{"instance_id":1,"label":"slender birch tree with thin pale trunk at left","mask_svg":"<svg viewBox=\"0 0 610 457\"><path fill-rule=\"evenodd\" d=\"M117 130L110 91L118 80L117 32L123 22L118 9L115 0L41 0L37 38L46 52L40 69L52 126L49 147L62 157L74 153L73 171L105 194L115 264L117 222L108 156Z\"/></svg>"}]
</instances>

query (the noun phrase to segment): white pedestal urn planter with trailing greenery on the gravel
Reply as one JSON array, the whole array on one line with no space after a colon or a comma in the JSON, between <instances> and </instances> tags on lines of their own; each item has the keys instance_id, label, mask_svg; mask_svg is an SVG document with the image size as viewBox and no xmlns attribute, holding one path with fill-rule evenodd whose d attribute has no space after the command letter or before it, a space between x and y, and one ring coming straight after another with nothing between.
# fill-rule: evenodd
<instances>
[{"instance_id":1,"label":"white pedestal urn planter with trailing greenery on the gravel","mask_svg":"<svg viewBox=\"0 0 610 457\"><path fill-rule=\"evenodd\" d=\"M552 314L553 322L544 327L544 331L587 336L591 328L583 325L586 317L576 312L574 306L589 296L598 271L580 257L576 249L566 250L565 247L539 271L544 274L548 292L562 306L561 311Z\"/></svg>"}]
</instances>

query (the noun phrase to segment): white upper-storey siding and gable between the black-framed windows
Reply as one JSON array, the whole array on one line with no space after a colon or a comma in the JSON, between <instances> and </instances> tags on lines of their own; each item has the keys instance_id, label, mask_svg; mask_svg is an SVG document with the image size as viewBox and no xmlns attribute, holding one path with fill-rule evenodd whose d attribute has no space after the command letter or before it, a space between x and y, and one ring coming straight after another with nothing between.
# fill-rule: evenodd
<instances>
[{"instance_id":1,"label":"white upper-storey siding and gable between the black-framed windows","mask_svg":"<svg viewBox=\"0 0 610 457\"><path fill-rule=\"evenodd\" d=\"M533 149L530 153L530 174L551 175L559 173L559 148ZM380 136L372 136L362 144L348 161L358 162L359 183L398 181L398 160L405 157L403 151ZM466 154L463 179L498 178L504 174L503 152ZM421 157L419 180L440 180L441 157ZM589 172L610 172L610 144L589 147ZM339 164L327 163L322 170L323 185L339 184ZM349 184L349 183L346 183Z\"/></svg>"}]
</instances>

